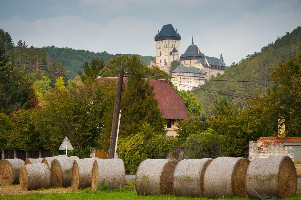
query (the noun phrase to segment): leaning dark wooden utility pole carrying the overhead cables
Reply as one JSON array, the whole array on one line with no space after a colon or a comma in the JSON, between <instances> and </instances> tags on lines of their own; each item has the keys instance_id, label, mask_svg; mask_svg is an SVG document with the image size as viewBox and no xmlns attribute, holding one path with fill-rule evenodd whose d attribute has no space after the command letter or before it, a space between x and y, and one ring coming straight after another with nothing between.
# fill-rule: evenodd
<instances>
[{"instance_id":1,"label":"leaning dark wooden utility pole carrying the overhead cables","mask_svg":"<svg viewBox=\"0 0 301 200\"><path fill-rule=\"evenodd\" d=\"M114 158L114 153L115 153L115 143L116 143L116 135L117 135L118 115L119 115L119 106L120 106L121 91L122 91L122 82L123 82L123 66L121 65L120 69L119 69L118 85L117 85L117 91L116 91L116 97L115 97L115 105L114 105L112 131L111 131L111 139L110 139L110 148L109 148L108 158Z\"/></svg>"}]
</instances>

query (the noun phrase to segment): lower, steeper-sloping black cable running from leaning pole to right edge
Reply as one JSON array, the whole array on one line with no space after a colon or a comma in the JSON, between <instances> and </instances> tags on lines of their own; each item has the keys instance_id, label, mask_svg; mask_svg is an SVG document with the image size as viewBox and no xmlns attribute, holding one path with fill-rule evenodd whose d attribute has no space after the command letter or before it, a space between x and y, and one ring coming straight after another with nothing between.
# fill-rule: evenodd
<instances>
[{"instance_id":1,"label":"lower, steeper-sloping black cable running from leaning pole to right edge","mask_svg":"<svg viewBox=\"0 0 301 200\"><path fill-rule=\"evenodd\" d=\"M141 78L153 79L153 78L149 78L149 77L146 77L146 76L141 76L141 75L139 75L139 74L134 74L134 73L129 73L129 72L125 72L125 73L126 73L126 74L135 75L135 76L139 76L139 77L141 77ZM216 94L220 94L220 95L233 96L233 97L244 98L244 99L249 99L249 100L257 100L257 101L270 102L270 103L277 103L277 104L283 104L283 105L301 106L301 104L294 104L294 103L283 102L283 101L277 101L277 100L271 100L271 99L265 99L265 98L258 98L258 97L254 97L254 96L248 96L248 95L239 95L239 94L234 94L234 93L229 93L229 92L222 92L222 91L217 91L217 90L205 89L205 88L201 88L201 87L196 88L196 87L189 86L189 85L183 85L183 84L178 84L178 83L172 83L172 82L170 82L170 81L166 81L166 80L163 80L163 79L153 79L153 80L158 80L158 81L162 81L162 82L167 82L167 83L174 84L174 85L178 85L178 86L183 86L183 87L187 87L187 88L191 88L191 89L195 89L195 90L201 90L201 91L216 93Z\"/></svg>"}]
</instances>

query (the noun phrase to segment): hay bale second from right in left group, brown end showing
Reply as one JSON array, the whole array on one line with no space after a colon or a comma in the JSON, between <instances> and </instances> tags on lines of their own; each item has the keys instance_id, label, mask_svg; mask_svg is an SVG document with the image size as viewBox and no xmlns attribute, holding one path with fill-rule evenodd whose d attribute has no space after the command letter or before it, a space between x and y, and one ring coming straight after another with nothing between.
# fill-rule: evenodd
<instances>
[{"instance_id":1,"label":"hay bale second from right in left group, brown end showing","mask_svg":"<svg viewBox=\"0 0 301 200\"><path fill-rule=\"evenodd\" d=\"M75 160L72 167L72 189L78 190L91 186L93 163L99 158Z\"/></svg>"}]
</instances>

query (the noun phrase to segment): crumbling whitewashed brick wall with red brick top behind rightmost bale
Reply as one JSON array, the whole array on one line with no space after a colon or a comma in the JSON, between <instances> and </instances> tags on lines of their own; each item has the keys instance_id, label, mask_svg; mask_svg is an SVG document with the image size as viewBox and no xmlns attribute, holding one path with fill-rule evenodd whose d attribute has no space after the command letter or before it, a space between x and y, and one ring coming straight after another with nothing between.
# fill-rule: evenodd
<instances>
[{"instance_id":1,"label":"crumbling whitewashed brick wall with red brick top behind rightmost bale","mask_svg":"<svg viewBox=\"0 0 301 200\"><path fill-rule=\"evenodd\" d=\"M301 137L260 137L249 141L249 159L288 156L301 175Z\"/></svg>"}]
</instances>

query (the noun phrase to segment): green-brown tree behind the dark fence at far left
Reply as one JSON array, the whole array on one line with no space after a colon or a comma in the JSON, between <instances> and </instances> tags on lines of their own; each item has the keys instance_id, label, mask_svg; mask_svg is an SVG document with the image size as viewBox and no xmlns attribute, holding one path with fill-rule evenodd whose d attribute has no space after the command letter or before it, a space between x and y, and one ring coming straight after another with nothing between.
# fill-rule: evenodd
<instances>
[{"instance_id":1,"label":"green-brown tree behind the dark fence at far left","mask_svg":"<svg viewBox=\"0 0 301 200\"><path fill-rule=\"evenodd\" d=\"M7 149L23 151L41 149L40 133L35 131L31 115L31 110L18 110L13 113Z\"/></svg>"}]
</instances>

